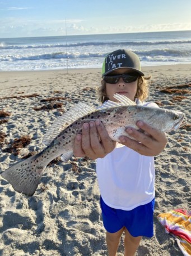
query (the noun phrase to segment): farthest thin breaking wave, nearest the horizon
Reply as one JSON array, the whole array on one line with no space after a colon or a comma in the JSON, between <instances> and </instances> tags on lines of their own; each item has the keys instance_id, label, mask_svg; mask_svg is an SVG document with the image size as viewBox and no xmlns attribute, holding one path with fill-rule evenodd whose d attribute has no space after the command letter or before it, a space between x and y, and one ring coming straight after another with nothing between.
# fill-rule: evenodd
<instances>
[{"instance_id":1,"label":"farthest thin breaking wave, nearest the horizon","mask_svg":"<svg viewBox=\"0 0 191 256\"><path fill-rule=\"evenodd\" d=\"M4 42L0 42L1 50L11 49L32 49L32 48L69 48L69 47L83 47L83 46L152 46L152 45L164 45L164 44L189 44L191 40L182 41L120 41L120 42L82 42L82 43L63 43L63 44L31 44L31 45L7 45Z\"/></svg>"}]
</instances>

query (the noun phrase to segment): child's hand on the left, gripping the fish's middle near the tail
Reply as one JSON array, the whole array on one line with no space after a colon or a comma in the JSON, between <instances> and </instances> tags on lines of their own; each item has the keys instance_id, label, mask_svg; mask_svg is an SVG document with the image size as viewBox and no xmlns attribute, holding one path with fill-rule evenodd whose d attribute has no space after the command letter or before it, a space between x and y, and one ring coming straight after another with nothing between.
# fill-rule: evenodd
<instances>
[{"instance_id":1,"label":"child's hand on the left, gripping the fish's middle near the tail","mask_svg":"<svg viewBox=\"0 0 191 256\"><path fill-rule=\"evenodd\" d=\"M82 135L77 134L74 140L73 154L81 158L88 156L92 160L104 158L114 150L116 142L111 140L100 120L84 123Z\"/></svg>"}]
</instances>

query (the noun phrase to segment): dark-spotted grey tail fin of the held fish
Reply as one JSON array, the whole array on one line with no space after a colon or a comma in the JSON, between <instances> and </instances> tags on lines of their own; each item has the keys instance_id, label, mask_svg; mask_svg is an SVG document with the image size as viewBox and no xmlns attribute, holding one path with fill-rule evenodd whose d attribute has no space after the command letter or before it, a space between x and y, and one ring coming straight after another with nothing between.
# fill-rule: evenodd
<instances>
[{"instance_id":1,"label":"dark-spotted grey tail fin of the held fish","mask_svg":"<svg viewBox=\"0 0 191 256\"><path fill-rule=\"evenodd\" d=\"M39 156L40 153L19 161L1 173L1 176L11 183L15 191L32 196L47 164L40 161Z\"/></svg>"}]
</instances>

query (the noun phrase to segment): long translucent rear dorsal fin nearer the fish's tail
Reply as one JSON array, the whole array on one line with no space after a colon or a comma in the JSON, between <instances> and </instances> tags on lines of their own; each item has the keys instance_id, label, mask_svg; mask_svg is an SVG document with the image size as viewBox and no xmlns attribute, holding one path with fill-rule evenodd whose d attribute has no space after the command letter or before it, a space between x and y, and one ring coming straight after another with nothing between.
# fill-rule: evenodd
<instances>
[{"instance_id":1,"label":"long translucent rear dorsal fin nearer the fish's tail","mask_svg":"<svg viewBox=\"0 0 191 256\"><path fill-rule=\"evenodd\" d=\"M43 137L43 143L48 146L63 131L69 124L72 124L77 119L82 118L89 113L96 111L94 107L88 106L83 102L79 102L72 109L68 110L63 115L59 116L57 120L49 127L48 131Z\"/></svg>"}]
</instances>

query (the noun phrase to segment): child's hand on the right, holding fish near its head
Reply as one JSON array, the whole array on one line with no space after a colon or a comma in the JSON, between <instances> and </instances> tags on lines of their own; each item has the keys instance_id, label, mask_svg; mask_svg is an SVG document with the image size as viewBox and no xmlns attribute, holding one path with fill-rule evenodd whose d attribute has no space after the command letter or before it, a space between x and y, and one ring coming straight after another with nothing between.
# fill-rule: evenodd
<instances>
[{"instance_id":1,"label":"child's hand on the right, holding fish near its head","mask_svg":"<svg viewBox=\"0 0 191 256\"><path fill-rule=\"evenodd\" d=\"M160 154L160 152L165 149L167 143L166 134L142 121L138 121L137 126L145 131L146 134L138 132L133 128L127 128L126 132L134 137L135 140L121 136L120 143L130 147L130 149L137 151L141 155L154 156Z\"/></svg>"}]
</instances>

